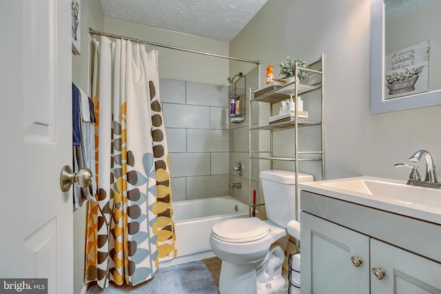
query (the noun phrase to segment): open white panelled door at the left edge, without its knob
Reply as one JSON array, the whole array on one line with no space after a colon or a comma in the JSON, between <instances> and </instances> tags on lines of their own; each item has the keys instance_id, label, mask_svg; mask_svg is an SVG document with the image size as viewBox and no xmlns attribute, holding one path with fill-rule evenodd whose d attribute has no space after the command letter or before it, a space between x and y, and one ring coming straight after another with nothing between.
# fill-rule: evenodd
<instances>
[{"instance_id":1,"label":"open white panelled door at the left edge, without its knob","mask_svg":"<svg viewBox=\"0 0 441 294\"><path fill-rule=\"evenodd\" d=\"M0 278L48 278L48 293L72 293L72 192L59 187L72 165L70 11L0 3Z\"/></svg>"}]
</instances>

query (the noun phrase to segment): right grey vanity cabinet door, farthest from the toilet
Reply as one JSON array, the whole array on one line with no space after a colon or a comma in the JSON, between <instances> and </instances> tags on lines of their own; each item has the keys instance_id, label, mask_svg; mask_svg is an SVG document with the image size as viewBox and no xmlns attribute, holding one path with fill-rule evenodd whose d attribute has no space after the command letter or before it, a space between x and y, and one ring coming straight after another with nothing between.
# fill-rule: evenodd
<instances>
[{"instance_id":1,"label":"right grey vanity cabinet door, farthest from the toilet","mask_svg":"<svg viewBox=\"0 0 441 294\"><path fill-rule=\"evenodd\" d=\"M385 273L381 280L371 275L372 294L441 293L440 263L375 239L371 239L371 269Z\"/></svg>"}]
</instances>

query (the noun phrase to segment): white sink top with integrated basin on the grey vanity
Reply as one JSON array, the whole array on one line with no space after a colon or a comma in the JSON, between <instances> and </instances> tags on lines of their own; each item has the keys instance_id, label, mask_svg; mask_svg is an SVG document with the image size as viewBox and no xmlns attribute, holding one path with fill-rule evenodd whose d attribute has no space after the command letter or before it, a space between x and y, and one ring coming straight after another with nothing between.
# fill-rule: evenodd
<instances>
[{"instance_id":1,"label":"white sink top with integrated basin on the grey vanity","mask_svg":"<svg viewBox=\"0 0 441 294\"><path fill-rule=\"evenodd\" d=\"M441 190L367 176L299 183L298 187L357 204L441 224ZM300 207L301 209L301 207Z\"/></svg>"}]
</instances>

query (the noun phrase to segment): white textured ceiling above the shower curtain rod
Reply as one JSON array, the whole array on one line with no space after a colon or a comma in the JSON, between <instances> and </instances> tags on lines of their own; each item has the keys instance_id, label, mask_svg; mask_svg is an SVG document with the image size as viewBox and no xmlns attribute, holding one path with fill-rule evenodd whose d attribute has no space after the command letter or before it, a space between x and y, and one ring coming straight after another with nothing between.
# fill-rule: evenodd
<instances>
[{"instance_id":1,"label":"white textured ceiling above the shower curtain rod","mask_svg":"<svg viewBox=\"0 0 441 294\"><path fill-rule=\"evenodd\" d=\"M132 23L229 42L267 0L101 0L103 12Z\"/></svg>"}]
</instances>

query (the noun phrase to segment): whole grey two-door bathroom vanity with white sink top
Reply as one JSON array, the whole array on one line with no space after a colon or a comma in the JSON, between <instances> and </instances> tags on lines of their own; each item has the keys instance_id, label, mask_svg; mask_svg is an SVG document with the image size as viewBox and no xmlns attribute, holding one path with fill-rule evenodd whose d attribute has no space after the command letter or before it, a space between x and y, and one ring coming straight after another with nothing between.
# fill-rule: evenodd
<instances>
[{"instance_id":1,"label":"whole grey two-door bathroom vanity with white sink top","mask_svg":"<svg viewBox=\"0 0 441 294\"><path fill-rule=\"evenodd\" d=\"M441 190L370 177L298 187L301 293L441 293Z\"/></svg>"}]
</instances>

